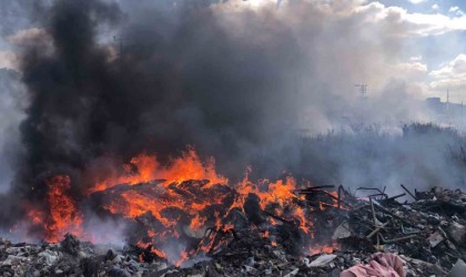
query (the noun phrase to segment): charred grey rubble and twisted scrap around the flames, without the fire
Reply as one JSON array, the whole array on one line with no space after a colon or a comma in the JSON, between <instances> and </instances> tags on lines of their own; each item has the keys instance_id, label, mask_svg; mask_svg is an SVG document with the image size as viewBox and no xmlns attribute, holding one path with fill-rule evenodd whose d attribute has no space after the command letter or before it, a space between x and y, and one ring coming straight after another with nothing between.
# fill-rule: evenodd
<instances>
[{"instance_id":1,"label":"charred grey rubble and twisted scrap around the flames, without the fire","mask_svg":"<svg viewBox=\"0 0 466 277\"><path fill-rule=\"evenodd\" d=\"M364 197L342 186L337 193L332 187L297 189L306 215L314 217L315 244L310 249L302 248L304 238L296 223L273 211L257 214L245 208L247 220L257 224L205 232L204 236L217 232L220 245L179 266L154 254L151 245L118 249L67 234L58 244L0 240L0 276L382 276L377 270L391 271L391 276L447 276L452 271L462 276L466 195L439 187L428 192L402 187L406 193L399 195L358 188ZM403 196L411 201L401 203ZM261 219L271 216L276 226ZM265 232L272 234L265 236ZM392 268L384 261L388 259L398 260L403 268Z\"/></svg>"}]
</instances>

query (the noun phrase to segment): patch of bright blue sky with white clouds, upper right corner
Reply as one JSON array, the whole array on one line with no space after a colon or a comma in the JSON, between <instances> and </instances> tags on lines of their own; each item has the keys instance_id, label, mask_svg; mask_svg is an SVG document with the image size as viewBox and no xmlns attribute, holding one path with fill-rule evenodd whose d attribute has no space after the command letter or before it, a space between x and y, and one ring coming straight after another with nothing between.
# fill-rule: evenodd
<instances>
[{"instance_id":1,"label":"patch of bright blue sky with white clouds, upper right corner","mask_svg":"<svg viewBox=\"0 0 466 277\"><path fill-rule=\"evenodd\" d=\"M445 101L448 88L452 101L466 100L466 1L385 0L365 4L398 10L406 21L418 22L418 30L405 38L406 54L426 66L426 94Z\"/></svg>"}]
</instances>

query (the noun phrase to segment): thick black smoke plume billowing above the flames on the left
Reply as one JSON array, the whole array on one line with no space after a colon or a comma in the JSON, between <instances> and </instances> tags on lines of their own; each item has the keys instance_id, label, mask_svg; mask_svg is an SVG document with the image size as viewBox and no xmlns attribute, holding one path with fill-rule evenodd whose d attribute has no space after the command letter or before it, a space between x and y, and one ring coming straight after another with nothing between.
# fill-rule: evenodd
<instances>
[{"instance_id":1,"label":"thick black smoke plume billowing above the flames on the left","mask_svg":"<svg viewBox=\"0 0 466 277\"><path fill-rule=\"evenodd\" d=\"M42 202L53 174L69 174L80 198L85 173L104 171L102 156L146 152L163 162L186 145L241 176L252 148L285 133L302 63L291 32L253 17L234 37L206 3L170 7L133 11L133 21L114 3L52 4L43 21L51 43L22 60L30 105L16 198Z\"/></svg>"}]
</instances>

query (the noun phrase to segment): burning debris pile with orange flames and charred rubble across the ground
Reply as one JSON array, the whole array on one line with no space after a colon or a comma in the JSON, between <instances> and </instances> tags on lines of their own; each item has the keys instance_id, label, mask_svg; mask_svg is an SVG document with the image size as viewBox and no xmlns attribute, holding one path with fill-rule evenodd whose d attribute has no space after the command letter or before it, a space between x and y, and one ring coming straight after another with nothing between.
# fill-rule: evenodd
<instances>
[{"instance_id":1,"label":"burning debris pile with orange flames and charred rubble across the ground","mask_svg":"<svg viewBox=\"0 0 466 277\"><path fill-rule=\"evenodd\" d=\"M246 176L234 186L217 177L219 183L101 183L91 189L89 198L102 204L101 213L128 222L122 249L79 240L88 238L85 214L64 201L69 179L55 177L50 197L68 204L42 222L53 236L40 245L2 240L1 274L368 276L387 270L446 276L466 258L466 194L460 191L412 193L402 185L406 193L391 196L362 187L358 192L369 195L356 197L343 186L300 187L292 177L254 184ZM403 196L414 202L399 203ZM58 243L63 232L78 237L67 234Z\"/></svg>"}]
</instances>

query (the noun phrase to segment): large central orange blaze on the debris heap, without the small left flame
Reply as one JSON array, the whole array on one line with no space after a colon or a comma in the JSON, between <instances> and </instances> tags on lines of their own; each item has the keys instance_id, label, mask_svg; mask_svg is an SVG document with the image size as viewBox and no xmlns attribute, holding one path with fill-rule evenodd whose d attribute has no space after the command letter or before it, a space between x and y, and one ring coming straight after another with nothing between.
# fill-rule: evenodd
<instances>
[{"instance_id":1,"label":"large central orange blaze on the debris heap, without the small left flame","mask_svg":"<svg viewBox=\"0 0 466 277\"><path fill-rule=\"evenodd\" d=\"M235 194L229 194L222 192L227 187L227 179L215 172L213 158L203 163L192 148L189 148L181 157L172 160L165 167L156 162L155 156L142 154L124 166L126 170L122 176L113 176L98 183L91 191L108 189L120 183L135 185L152 179L166 179L163 183L148 183L150 189L123 192L104 206L112 214L132 219L150 213L161 225L156 229L150 229L153 252L160 257L168 256L163 252L163 242L180 238L182 236L180 229L186 228L186 226L193 232L205 230L209 226L213 226L213 230L204 236L199 244L201 252L210 252L214 245L219 247L224 244L225 242L222 239L216 242L217 234L226 234L234 229L234 224L229 219L230 215L234 209L244 213L244 202L250 194L259 196L262 209L265 211L269 206L274 206L276 215L294 218L304 233L311 233L304 209L296 204L298 196L293 193L296 189L296 181L293 177L276 182L262 179L255 184L249 179L251 172L249 170L242 182L231 186ZM135 171L131 172L131 167ZM209 179L210 182L206 184L183 183L189 179ZM291 207L293 212L285 215L285 207ZM267 219L272 225L274 224L274 218L269 217ZM184 225L181 223L183 220ZM152 228L151 226L145 227ZM193 253L189 249L181 249L178 255L180 259L172 260L172 263L179 264L180 260L185 260L188 254L192 255Z\"/></svg>"}]
</instances>

